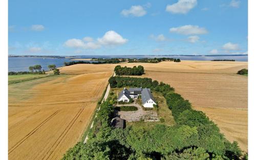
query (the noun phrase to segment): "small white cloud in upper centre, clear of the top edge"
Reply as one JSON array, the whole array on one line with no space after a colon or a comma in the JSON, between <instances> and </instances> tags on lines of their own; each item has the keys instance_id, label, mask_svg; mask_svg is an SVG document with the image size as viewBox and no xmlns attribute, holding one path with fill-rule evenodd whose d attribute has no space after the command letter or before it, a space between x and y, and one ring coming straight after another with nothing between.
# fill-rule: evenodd
<instances>
[{"instance_id":1,"label":"small white cloud in upper centre, clear of the top edge","mask_svg":"<svg viewBox=\"0 0 256 160\"><path fill-rule=\"evenodd\" d=\"M141 17L146 14L146 11L142 6L138 5L138 6L132 6L130 9L122 10L121 14L126 17L129 15L132 15L135 17Z\"/></svg>"}]
</instances>

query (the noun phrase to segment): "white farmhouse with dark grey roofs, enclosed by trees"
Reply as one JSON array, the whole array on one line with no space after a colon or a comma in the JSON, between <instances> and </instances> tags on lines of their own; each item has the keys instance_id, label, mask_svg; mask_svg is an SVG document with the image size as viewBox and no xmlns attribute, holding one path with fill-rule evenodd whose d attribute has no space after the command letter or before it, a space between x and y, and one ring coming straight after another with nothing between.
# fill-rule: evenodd
<instances>
[{"instance_id":1,"label":"white farmhouse with dark grey roofs, enclosed by trees","mask_svg":"<svg viewBox=\"0 0 256 160\"><path fill-rule=\"evenodd\" d=\"M118 102L130 102L132 99L137 99L139 95L141 95L142 105L144 107L153 108L154 104L156 104L156 100L150 92L150 88L129 88L129 90L124 88L119 93L117 100Z\"/></svg>"}]
</instances>

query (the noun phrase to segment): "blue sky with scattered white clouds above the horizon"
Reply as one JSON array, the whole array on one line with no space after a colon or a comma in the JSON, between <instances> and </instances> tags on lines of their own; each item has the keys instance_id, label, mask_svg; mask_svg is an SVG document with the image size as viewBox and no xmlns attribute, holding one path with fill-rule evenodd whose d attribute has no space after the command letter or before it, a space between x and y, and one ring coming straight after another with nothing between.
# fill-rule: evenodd
<instances>
[{"instance_id":1,"label":"blue sky with scattered white clouds above the horizon","mask_svg":"<svg viewBox=\"0 0 256 160\"><path fill-rule=\"evenodd\" d=\"M246 0L9 0L9 55L247 54Z\"/></svg>"}]
</instances>

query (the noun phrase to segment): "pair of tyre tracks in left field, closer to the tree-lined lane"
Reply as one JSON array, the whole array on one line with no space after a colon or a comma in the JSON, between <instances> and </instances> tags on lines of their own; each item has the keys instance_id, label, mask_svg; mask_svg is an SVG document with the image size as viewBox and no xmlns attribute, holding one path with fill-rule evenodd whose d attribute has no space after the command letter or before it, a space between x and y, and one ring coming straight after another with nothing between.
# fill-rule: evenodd
<instances>
[{"instance_id":1,"label":"pair of tyre tracks in left field, closer to the tree-lined lane","mask_svg":"<svg viewBox=\"0 0 256 160\"><path fill-rule=\"evenodd\" d=\"M63 130L63 132L60 134L59 138L55 141L55 143L52 145L51 150L49 150L46 155L42 158L42 159L49 159L49 157L52 155L52 153L55 151L55 149L58 147L58 145L60 144L60 142L62 141L62 139L65 137L65 135L69 132L69 130L71 129L71 127L74 125L74 123L76 122L76 120L78 119L78 117L81 115L82 111L84 110L84 108L87 106L86 103L82 104L82 109L79 109L79 111L76 113L76 115L74 116L74 118L71 120L71 122L68 124L68 126ZM56 145L56 146L55 146ZM49 154L50 153L50 154ZM48 155L49 154L49 155ZM48 155L48 156L47 156Z\"/></svg>"}]
</instances>

